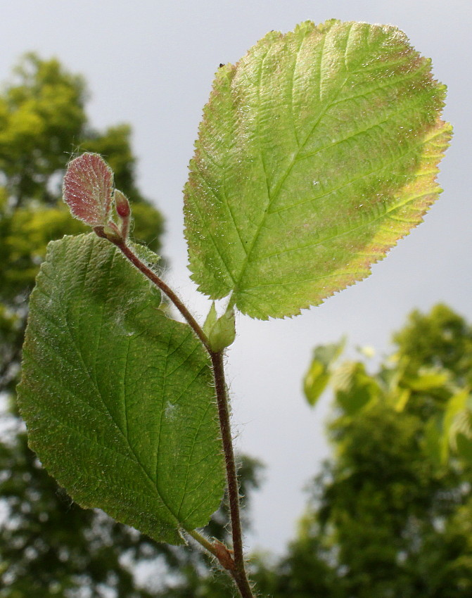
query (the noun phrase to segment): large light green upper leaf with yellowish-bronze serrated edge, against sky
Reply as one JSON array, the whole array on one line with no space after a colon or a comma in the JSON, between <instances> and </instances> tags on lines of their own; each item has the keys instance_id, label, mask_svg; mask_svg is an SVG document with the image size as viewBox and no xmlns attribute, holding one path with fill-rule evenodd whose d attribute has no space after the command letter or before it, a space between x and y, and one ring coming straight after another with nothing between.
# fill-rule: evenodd
<instances>
[{"instance_id":1,"label":"large light green upper leaf with yellowish-bronze serrated edge, against sky","mask_svg":"<svg viewBox=\"0 0 472 598\"><path fill-rule=\"evenodd\" d=\"M444 98L390 25L303 23L220 68L185 191L200 291L267 319L368 276L438 196Z\"/></svg>"}]
</instances>

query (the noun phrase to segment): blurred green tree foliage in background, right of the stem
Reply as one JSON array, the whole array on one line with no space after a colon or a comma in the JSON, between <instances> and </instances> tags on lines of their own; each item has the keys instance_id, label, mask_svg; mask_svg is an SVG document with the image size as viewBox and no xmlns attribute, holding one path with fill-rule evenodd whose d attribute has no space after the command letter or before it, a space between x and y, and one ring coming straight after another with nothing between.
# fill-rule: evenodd
<instances>
[{"instance_id":1,"label":"blurred green tree foliage in background, right of the stem","mask_svg":"<svg viewBox=\"0 0 472 598\"><path fill-rule=\"evenodd\" d=\"M315 351L307 397L328 375L335 456L288 556L260 569L274 598L472 594L472 327L438 305L394 340L374 374L363 360L333 366L336 345Z\"/></svg>"}]
</instances>

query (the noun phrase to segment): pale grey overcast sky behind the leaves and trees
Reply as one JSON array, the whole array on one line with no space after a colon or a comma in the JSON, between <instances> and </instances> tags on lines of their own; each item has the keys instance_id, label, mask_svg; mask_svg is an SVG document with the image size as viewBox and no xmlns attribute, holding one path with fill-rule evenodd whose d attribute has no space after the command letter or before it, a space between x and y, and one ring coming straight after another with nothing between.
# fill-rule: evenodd
<instances>
[{"instance_id":1,"label":"pale grey overcast sky behind the leaves and trees","mask_svg":"<svg viewBox=\"0 0 472 598\"><path fill-rule=\"evenodd\" d=\"M0 21L0 79L25 51L57 56L86 77L95 127L132 125L139 186L166 217L169 279L203 317L209 304L186 269L181 189L215 70L269 30L328 18L404 30L449 88L445 117L454 139L440 200L369 279L293 320L238 318L229 352L236 445L267 464L247 544L277 552L295 531L303 486L329 452L329 399L312 411L300 392L314 345L347 334L351 348L374 345L382 354L408 312L440 301L472 320L471 0L15 0L2 4Z\"/></svg>"}]
</instances>

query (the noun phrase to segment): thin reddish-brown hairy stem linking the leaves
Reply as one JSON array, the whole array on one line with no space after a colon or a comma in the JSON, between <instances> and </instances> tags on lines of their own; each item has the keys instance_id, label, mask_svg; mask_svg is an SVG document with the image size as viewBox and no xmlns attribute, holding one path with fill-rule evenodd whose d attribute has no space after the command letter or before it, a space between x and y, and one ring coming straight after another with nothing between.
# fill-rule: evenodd
<instances>
[{"instance_id":1,"label":"thin reddish-brown hairy stem linking the leaves","mask_svg":"<svg viewBox=\"0 0 472 598\"><path fill-rule=\"evenodd\" d=\"M98 236L102 236L100 231L96 231ZM108 238L105 236L105 238ZM227 398L227 388L224 379L224 362L223 352L214 352L211 350L208 344L208 338L200 328L200 325L196 319L192 316L189 310L186 308L184 303L181 302L179 297L172 291L172 288L167 286L160 277L148 268L137 255L134 254L131 248L129 248L122 238L108 238L118 249L132 262L140 272L144 274L151 282L155 284L162 293L165 293L172 303L177 307L177 310L184 316L186 322L196 333L200 341L205 346L208 354L212 360L213 375L215 377L215 390L217 395L217 406L219 416L219 427L222 433L222 443L224 451L224 464L227 471L227 484L228 484L228 500L229 500L229 514L231 519L231 535L233 539L233 550L234 556L230 554L229 550L215 542L212 544L204 536L200 535L196 530L186 530L187 533L193 537L194 540L199 542L205 549L211 554L217 557L222 566L230 573L234 578L234 583L238 587L239 593L242 598L254 598L253 592L250 588L248 576L245 572L244 567L244 555L243 555L243 534L241 528L241 515L239 507L239 488L238 488L238 475L236 472L236 461L234 459L233 450L233 439L231 438L231 424L229 420L229 405Z\"/></svg>"}]
</instances>

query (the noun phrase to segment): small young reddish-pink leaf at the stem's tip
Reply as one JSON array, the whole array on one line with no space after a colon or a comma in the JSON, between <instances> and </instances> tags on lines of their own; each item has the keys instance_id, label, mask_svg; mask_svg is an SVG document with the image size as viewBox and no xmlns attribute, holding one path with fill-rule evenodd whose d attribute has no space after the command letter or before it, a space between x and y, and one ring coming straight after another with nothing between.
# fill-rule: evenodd
<instances>
[{"instance_id":1,"label":"small young reddish-pink leaf at the stem's tip","mask_svg":"<svg viewBox=\"0 0 472 598\"><path fill-rule=\"evenodd\" d=\"M65 172L63 194L72 215L91 227L108 224L113 171L97 153L72 160Z\"/></svg>"}]
</instances>

